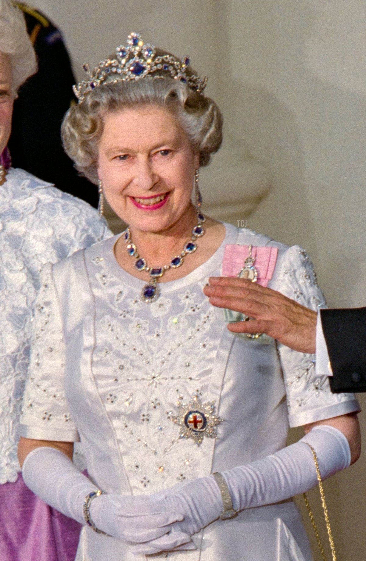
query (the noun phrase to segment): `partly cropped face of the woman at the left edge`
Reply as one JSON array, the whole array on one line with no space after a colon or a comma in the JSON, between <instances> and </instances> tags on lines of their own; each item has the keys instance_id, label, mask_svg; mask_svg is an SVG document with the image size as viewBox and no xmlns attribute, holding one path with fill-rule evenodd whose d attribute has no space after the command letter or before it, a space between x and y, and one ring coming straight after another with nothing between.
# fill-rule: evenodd
<instances>
[{"instance_id":1,"label":"partly cropped face of the woman at the left edge","mask_svg":"<svg viewBox=\"0 0 366 561\"><path fill-rule=\"evenodd\" d=\"M12 71L10 58L0 52L0 153L9 140L13 111Z\"/></svg>"}]
</instances>

